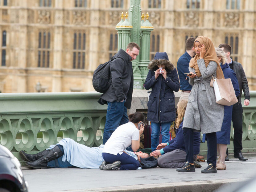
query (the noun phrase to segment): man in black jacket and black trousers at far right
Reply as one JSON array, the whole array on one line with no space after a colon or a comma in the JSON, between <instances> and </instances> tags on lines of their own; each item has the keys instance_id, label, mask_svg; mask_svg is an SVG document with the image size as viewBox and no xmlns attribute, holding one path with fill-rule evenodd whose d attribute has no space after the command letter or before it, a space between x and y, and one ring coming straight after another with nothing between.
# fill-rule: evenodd
<instances>
[{"instance_id":1,"label":"man in black jacket and black trousers at far right","mask_svg":"<svg viewBox=\"0 0 256 192\"><path fill-rule=\"evenodd\" d=\"M237 80L239 83L239 88L240 88L240 94L238 96L238 102L233 105L233 111L232 111L232 122L233 122L233 127L234 127L234 157L238 158L241 161L246 161L247 159L244 158L241 150L243 149L242 147L242 134L243 134L243 129L242 129L242 113L243 113L243 108L241 104L241 97L242 97L242 90L244 92L245 100L244 100L244 105L249 105L250 104L250 92L249 92L249 86L248 86L248 81L244 72L244 69L241 65L241 63L238 63L236 61L233 61L230 58L230 54L232 51L232 48L229 44L220 44L219 47L225 52L225 55L228 60L229 67L234 70L237 76ZM227 157L225 159L228 159L228 148L227 148Z\"/></svg>"}]
</instances>

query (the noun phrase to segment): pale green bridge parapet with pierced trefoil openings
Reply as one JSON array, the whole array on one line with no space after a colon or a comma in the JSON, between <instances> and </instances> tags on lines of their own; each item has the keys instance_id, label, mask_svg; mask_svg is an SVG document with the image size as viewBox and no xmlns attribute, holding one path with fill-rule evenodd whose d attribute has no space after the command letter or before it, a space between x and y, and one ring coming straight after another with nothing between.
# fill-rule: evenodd
<instances>
[{"instance_id":1,"label":"pale green bridge parapet with pierced trefoil openings","mask_svg":"<svg viewBox=\"0 0 256 192\"><path fill-rule=\"evenodd\" d=\"M250 95L250 105L243 106L243 152L256 151L256 91ZM97 147L102 143L107 111L107 105L97 103L99 97L97 92L1 93L0 143L21 163L19 151L37 153L67 137ZM232 153L231 127L228 147ZM201 143L200 154L206 151L207 144Z\"/></svg>"}]
</instances>

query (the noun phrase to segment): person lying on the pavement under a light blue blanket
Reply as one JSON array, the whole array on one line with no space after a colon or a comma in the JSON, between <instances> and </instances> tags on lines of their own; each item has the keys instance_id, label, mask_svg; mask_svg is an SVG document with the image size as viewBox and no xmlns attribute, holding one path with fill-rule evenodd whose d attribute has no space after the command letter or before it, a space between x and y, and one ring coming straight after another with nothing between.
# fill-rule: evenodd
<instances>
[{"instance_id":1,"label":"person lying on the pavement under a light blue blanket","mask_svg":"<svg viewBox=\"0 0 256 192\"><path fill-rule=\"evenodd\" d=\"M80 167L88 169L98 169L104 159L102 150L104 145L99 147L87 147L75 142L73 139L64 138L56 145L41 151L37 154L30 155L20 151L21 158L26 161L29 167L33 168L67 168ZM56 153L55 153L56 152ZM126 151L135 160L148 158L147 153Z\"/></svg>"}]
</instances>

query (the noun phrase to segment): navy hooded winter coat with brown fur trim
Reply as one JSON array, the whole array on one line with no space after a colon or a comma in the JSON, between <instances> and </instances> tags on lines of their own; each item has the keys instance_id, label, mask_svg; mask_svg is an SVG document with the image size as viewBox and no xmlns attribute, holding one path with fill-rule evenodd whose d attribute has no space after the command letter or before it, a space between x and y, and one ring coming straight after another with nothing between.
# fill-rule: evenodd
<instances>
[{"instance_id":1,"label":"navy hooded winter coat with brown fur trim","mask_svg":"<svg viewBox=\"0 0 256 192\"><path fill-rule=\"evenodd\" d=\"M167 78L164 79L162 74L159 74L155 79L155 71L158 69L157 65L165 65L167 71ZM149 72L145 80L145 89L152 88L147 103L148 113L147 120L154 123L166 123L175 121L175 100L173 91L177 92L180 89L180 82L177 70L174 65L168 60L167 53L155 54L154 60L148 65Z\"/></svg>"}]
</instances>

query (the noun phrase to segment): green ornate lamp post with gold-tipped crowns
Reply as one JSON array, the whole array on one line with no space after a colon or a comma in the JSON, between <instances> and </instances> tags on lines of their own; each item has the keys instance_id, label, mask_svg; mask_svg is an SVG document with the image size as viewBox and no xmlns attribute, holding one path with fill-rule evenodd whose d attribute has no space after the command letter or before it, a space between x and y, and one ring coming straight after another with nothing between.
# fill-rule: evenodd
<instances>
[{"instance_id":1,"label":"green ornate lamp post with gold-tipped crowns","mask_svg":"<svg viewBox=\"0 0 256 192\"><path fill-rule=\"evenodd\" d=\"M130 0L129 18L126 12L120 15L121 21L116 25L118 31L118 49L126 49L130 42L137 43L141 49L139 57L132 61L134 73L134 88L143 89L144 81L146 80L149 63L150 52L150 34L153 26L148 21L148 13L146 16L142 14L140 8L140 0ZM125 20L123 21L123 17ZM144 22L144 18L147 18ZM140 18L142 20L140 21Z\"/></svg>"}]
</instances>

